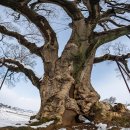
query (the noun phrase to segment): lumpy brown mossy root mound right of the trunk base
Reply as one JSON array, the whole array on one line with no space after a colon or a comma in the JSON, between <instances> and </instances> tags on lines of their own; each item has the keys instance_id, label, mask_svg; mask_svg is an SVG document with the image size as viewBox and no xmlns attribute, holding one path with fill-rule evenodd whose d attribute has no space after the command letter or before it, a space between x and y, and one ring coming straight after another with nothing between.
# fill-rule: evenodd
<instances>
[{"instance_id":1,"label":"lumpy brown mossy root mound right of the trunk base","mask_svg":"<svg viewBox=\"0 0 130 130\"><path fill-rule=\"evenodd\" d=\"M121 103L111 106L105 102L97 102L91 108L88 118L95 123L130 128L130 111Z\"/></svg>"}]
</instances>

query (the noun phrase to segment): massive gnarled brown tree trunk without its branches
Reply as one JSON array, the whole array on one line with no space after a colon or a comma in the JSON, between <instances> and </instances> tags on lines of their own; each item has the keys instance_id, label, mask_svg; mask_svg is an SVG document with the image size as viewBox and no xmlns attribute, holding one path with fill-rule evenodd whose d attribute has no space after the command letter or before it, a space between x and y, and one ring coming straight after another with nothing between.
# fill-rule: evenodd
<instances>
[{"instance_id":1,"label":"massive gnarled brown tree trunk without its branches","mask_svg":"<svg viewBox=\"0 0 130 130\"><path fill-rule=\"evenodd\" d=\"M99 100L90 80L95 49L91 47L89 31L84 20L73 23L73 28L61 57L45 66L40 87L41 108L37 115L37 118L54 119L67 125L73 123L78 114L87 115Z\"/></svg>"}]
</instances>

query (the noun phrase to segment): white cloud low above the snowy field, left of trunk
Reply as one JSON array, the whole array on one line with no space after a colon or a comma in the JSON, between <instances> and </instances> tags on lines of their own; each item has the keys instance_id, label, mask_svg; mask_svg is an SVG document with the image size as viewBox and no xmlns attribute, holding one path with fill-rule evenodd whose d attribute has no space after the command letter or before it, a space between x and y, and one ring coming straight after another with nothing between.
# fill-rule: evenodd
<instances>
[{"instance_id":1,"label":"white cloud low above the snowy field, left of trunk","mask_svg":"<svg viewBox=\"0 0 130 130\"><path fill-rule=\"evenodd\" d=\"M23 109L38 111L40 108L39 97L25 97L14 89L3 86L0 91L0 102Z\"/></svg>"}]
</instances>

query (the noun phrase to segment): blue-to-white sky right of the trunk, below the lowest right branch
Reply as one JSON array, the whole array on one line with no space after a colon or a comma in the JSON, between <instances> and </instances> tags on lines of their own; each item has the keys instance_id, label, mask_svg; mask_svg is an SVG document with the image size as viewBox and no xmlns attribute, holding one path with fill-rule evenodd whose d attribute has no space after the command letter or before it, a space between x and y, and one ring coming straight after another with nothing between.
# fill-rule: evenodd
<instances>
[{"instance_id":1,"label":"blue-to-white sky right of the trunk, below the lowest right branch","mask_svg":"<svg viewBox=\"0 0 130 130\"><path fill-rule=\"evenodd\" d=\"M101 99L116 97L117 102L130 103L130 94L122 77L117 77L116 63L101 63L93 67L92 84Z\"/></svg>"}]
</instances>

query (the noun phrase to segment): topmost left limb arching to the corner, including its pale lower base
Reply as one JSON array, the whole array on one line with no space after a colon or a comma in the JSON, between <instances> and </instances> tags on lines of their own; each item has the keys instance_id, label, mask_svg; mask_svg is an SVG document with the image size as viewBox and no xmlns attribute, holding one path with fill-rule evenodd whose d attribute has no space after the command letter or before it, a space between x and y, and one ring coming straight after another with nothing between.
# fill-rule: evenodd
<instances>
[{"instance_id":1,"label":"topmost left limb arching to the corner, including its pale lower base","mask_svg":"<svg viewBox=\"0 0 130 130\"><path fill-rule=\"evenodd\" d=\"M37 14L27 5L24 5L21 2L16 2L14 0L6 0L0 1L0 5L9 7L14 11L20 12L36 25L45 40L45 44L39 50L42 55L42 60L44 61L44 63L49 62L49 64L51 64L52 66L52 70L54 70L55 61L58 59L58 42L56 33L50 26L47 19L44 16Z\"/></svg>"}]
</instances>

